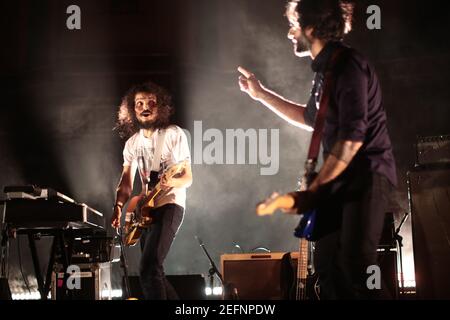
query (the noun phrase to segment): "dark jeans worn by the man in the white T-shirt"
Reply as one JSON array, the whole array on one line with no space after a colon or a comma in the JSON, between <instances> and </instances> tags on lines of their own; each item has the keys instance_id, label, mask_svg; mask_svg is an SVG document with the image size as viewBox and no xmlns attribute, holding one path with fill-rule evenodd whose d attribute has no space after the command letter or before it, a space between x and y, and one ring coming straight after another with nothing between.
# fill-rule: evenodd
<instances>
[{"instance_id":1,"label":"dark jeans worn by the man in the white T-shirt","mask_svg":"<svg viewBox=\"0 0 450 320\"><path fill-rule=\"evenodd\" d=\"M147 300L177 300L178 295L164 274L164 260L183 222L184 209L166 204L155 209L155 222L141 235L139 280Z\"/></svg>"}]
</instances>

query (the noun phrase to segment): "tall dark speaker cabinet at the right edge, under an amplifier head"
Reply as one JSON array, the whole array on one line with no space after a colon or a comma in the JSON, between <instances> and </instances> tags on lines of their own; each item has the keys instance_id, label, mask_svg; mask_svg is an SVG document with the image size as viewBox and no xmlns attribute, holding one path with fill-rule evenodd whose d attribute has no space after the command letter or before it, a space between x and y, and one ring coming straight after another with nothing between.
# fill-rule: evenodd
<instances>
[{"instance_id":1,"label":"tall dark speaker cabinet at the right edge, under an amplifier head","mask_svg":"<svg viewBox=\"0 0 450 320\"><path fill-rule=\"evenodd\" d=\"M419 299L450 299L450 169L408 172L416 290Z\"/></svg>"}]
</instances>

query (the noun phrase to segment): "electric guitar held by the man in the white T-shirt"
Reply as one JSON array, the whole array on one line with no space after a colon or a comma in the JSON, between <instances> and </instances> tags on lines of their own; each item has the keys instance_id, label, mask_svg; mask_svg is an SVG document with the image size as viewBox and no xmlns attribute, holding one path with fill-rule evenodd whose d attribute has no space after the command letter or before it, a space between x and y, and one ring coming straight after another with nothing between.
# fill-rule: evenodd
<instances>
[{"instance_id":1,"label":"electric guitar held by the man in the white T-shirt","mask_svg":"<svg viewBox=\"0 0 450 320\"><path fill-rule=\"evenodd\" d=\"M139 241L143 229L148 228L154 222L152 212L156 208L158 198L171 189L162 190L161 180L180 176L186 170L187 165L188 162L185 160L168 167L153 188L131 198L125 215L125 245L134 246Z\"/></svg>"}]
</instances>

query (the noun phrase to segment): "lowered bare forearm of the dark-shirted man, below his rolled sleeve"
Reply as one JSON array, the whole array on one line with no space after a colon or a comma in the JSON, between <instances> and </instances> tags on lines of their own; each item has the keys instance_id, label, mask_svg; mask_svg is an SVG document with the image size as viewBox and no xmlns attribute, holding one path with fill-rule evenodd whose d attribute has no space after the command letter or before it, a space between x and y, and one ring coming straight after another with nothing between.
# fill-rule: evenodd
<instances>
[{"instance_id":1,"label":"lowered bare forearm of the dark-shirted man, below his rolled sleeve","mask_svg":"<svg viewBox=\"0 0 450 320\"><path fill-rule=\"evenodd\" d=\"M348 167L362 145L362 142L338 141L325 160L322 169L311 184L309 190L315 192L320 186L336 179Z\"/></svg>"}]
</instances>

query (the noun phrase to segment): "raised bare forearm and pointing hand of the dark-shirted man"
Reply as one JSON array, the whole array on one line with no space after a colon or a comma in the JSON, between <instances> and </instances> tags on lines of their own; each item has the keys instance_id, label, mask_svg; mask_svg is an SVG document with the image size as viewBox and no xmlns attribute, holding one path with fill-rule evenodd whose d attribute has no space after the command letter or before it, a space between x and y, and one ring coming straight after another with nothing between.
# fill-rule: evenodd
<instances>
[{"instance_id":1,"label":"raised bare forearm and pointing hand of the dark-shirted man","mask_svg":"<svg viewBox=\"0 0 450 320\"><path fill-rule=\"evenodd\" d=\"M239 86L252 99L261 102L267 108L290 124L311 131L312 128L305 123L305 106L289 101L275 92L265 88L255 75L248 70L239 67L242 74L239 78Z\"/></svg>"}]
</instances>

